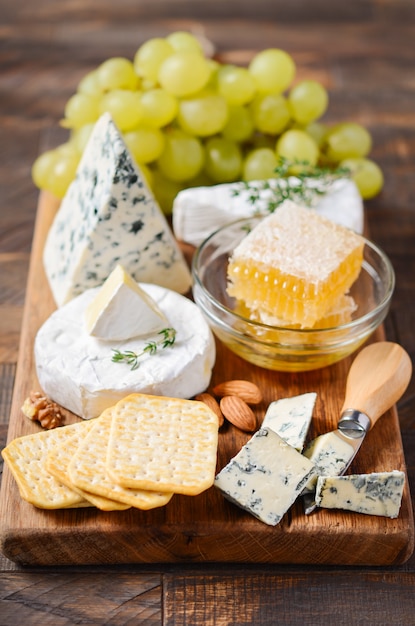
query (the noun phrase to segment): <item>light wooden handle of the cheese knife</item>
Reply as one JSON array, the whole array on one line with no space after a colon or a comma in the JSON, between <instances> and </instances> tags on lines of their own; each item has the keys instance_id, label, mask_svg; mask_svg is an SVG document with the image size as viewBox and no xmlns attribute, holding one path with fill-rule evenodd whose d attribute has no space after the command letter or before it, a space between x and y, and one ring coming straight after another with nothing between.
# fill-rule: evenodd
<instances>
[{"instance_id":1,"label":"light wooden handle of the cheese knife","mask_svg":"<svg viewBox=\"0 0 415 626\"><path fill-rule=\"evenodd\" d=\"M399 400L411 375L411 359L399 344L379 341L363 348L347 377L342 412L361 411L372 427Z\"/></svg>"}]
</instances>

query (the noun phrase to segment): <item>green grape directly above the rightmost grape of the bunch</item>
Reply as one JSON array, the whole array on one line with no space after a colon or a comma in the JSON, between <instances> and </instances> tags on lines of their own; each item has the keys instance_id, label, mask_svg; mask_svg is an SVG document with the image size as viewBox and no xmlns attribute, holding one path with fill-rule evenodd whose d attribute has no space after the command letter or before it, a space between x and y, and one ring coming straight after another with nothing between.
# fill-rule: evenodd
<instances>
[{"instance_id":1,"label":"green grape directly above the rightmost grape of the bunch","mask_svg":"<svg viewBox=\"0 0 415 626\"><path fill-rule=\"evenodd\" d=\"M342 122L331 128L326 137L325 152L334 162L349 157L364 157L372 147L369 132L355 122Z\"/></svg>"}]
</instances>

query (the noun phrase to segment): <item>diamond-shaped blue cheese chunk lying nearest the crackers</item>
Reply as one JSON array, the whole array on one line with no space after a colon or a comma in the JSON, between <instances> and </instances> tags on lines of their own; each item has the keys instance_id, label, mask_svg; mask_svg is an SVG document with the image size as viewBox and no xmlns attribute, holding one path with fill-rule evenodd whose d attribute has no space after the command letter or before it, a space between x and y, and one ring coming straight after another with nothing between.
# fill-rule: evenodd
<instances>
[{"instance_id":1,"label":"diamond-shaped blue cheese chunk lying nearest the crackers","mask_svg":"<svg viewBox=\"0 0 415 626\"><path fill-rule=\"evenodd\" d=\"M275 526L314 475L313 463L277 433L261 428L217 474L225 498Z\"/></svg>"}]
</instances>

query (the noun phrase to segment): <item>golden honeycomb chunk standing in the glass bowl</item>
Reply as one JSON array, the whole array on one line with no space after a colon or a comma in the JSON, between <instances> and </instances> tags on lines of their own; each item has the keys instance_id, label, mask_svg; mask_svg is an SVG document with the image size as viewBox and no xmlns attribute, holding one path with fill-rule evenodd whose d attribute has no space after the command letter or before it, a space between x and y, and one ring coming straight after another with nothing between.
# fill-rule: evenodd
<instances>
[{"instance_id":1,"label":"golden honeycomb chunk standing in the glass bowl","mask_svg":"<svg viewBox=\"0 0 415 626\"><path fill-rule=\"evenodd\" d=\"M318 326L358 277L363 246L363 238L353 231L287 203L233 251L228 293L285 326Z\"/></svg>"}]
</instances>

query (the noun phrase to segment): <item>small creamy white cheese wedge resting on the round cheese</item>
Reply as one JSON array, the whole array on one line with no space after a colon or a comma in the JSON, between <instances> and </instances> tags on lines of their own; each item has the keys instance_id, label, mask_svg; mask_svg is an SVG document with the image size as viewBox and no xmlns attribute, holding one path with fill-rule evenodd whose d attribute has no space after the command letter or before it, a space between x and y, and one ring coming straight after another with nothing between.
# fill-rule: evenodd
<instances>
[{"instance_id":1,"label":"small creamy white cheese wedge resting on the round cheese","mask_svg":"<svg viewBox=\"0 0 415 626\"><path fill-rule=\"evenodd\" d=\"M90 335L123 341L155 334L169 321L152 298L121 265L108 276L85 312Z\"/></svg>"}]
</instances>

